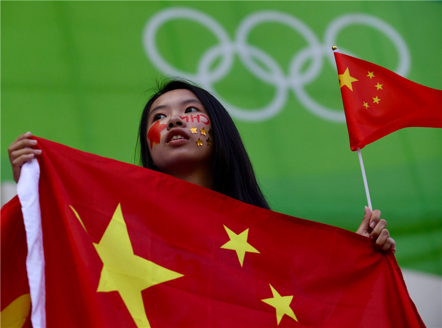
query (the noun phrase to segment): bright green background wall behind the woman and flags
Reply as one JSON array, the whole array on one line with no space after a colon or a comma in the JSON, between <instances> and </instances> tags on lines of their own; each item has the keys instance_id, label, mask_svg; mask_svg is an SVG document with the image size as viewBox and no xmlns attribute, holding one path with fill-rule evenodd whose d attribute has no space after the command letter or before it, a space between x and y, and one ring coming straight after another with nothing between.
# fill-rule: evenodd
<instances>
[{"instance_id":1,"label":"bright green background wall behind the woman and flags","mask_svg":"<svg viewBox=\"0 0 442 328\"><path fill-rule=\"evenodd\" d=\"M134 163L138 119L155 81L184 72L205 86L204 74L197 73L203 58L210 59L207 51L218 51L213 61L206 62L210 75L220 71L223 52L242 45L255 56L243 62L233 53L231 67L212 83L212 90L232 110L273 209L355 231L366 205L358 156L350 151L344 122L312 112L322 107L342 117L335 65L329 60L331 46L414 82L442 88L440 1L1 1L0 5L1 182L12 180L7 147L26 131ZM146 51L144 30L174 7L192 11L182 9L182 16L159 26L155 44L161 58L154 58ZM241 43L238 28L258 17L253 15L285 17L292 27L281 19L263 20ZM338 29L333 40L327 39L327 32L346 17L359 18ZM218 24L230 48L224 44L216 49L218 38L204 19ZM399 49L400 42L405 46ZM164 71L161 60L172 68ZM253 116L274 99L279 102L277 112L265 119L250 121L237 114L236 109L242 108L245 116ZM362 150L373 207L387 219L398 244L399 265L439 275L441 140L440 129L408 128Z\"/></svg>"}]
</instances>

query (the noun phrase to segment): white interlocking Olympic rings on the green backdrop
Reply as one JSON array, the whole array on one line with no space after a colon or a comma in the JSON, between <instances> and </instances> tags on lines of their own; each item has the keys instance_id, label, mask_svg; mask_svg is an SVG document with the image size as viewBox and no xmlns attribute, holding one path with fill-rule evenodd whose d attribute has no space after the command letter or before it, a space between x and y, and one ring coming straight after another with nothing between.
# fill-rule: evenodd
<instances>
[{"instance_id":1,"label":"white interlocking Olympic rings on the green backdrop","mask_svg":"<svg viewBox=\"0 0 442 328\"><path fill-rule=\"evenodd\" d=\"M219 43L209 48L201 55L198 62L197 73L182 71L168 63L157 49L156 34L166 22L174 19L187 19L207 27L218 39ZM274 58L248 43L249 33L259 24L274 22L292 28L307 41L308 46L293 55L288 69L288 76ZM335 44L339 32L351 25L365 25L378 29L391 40L398 53L399 62L395 72L406 76L410 69L410 51L402 36L390 25L381 19L368 14L345 14L335 18L326 28L324 41L321 43L313 31L300 19L284 12L258 11L245 17L235 32L232 41L226 30L211 16L184 7L171 7L156 13L145 25L143 31L143 45L146 55L165 74L179 75L197 82L208 91L215 93L213 85L222 80L231 70L235 55L238 55L242 64L261 81L273 84L276 88L275 95L269 104L258 109L241 109L229 104L222 97L220 101L231 113L245 121L263 121L278 114L287 101L289 89L314 115L331 122L345 122L342 109L331 109L319 104L305 91L304 85L314 81L320 74L326 57L335 69L331 45ZM340 49L347 55L353 55L347 49ZM353 55L355 56L355 55ZM211 70L214 62L221 57L220 62ZM267 70L263 69L256 61L260 62ZM307 60L311 60L308 68L302 71Z\"/></svg>"}]
</instances>

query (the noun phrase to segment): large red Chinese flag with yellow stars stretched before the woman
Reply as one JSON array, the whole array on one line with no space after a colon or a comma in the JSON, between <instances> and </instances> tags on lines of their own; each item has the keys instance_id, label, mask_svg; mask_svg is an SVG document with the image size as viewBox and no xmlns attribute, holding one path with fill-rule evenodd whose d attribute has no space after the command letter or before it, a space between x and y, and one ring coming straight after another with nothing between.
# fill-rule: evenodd
<instances>
[{"instance_id":1,"label":"large red Chinese flag with yellow stars stretched before the woman","mask_svg":"<svg viewBox=\"0 0 442 328\"><path fill-rule=\"evenodd\" d=\"M37 139L48 327L424 326L366 237Z\"/></svg>"}]
</instances>

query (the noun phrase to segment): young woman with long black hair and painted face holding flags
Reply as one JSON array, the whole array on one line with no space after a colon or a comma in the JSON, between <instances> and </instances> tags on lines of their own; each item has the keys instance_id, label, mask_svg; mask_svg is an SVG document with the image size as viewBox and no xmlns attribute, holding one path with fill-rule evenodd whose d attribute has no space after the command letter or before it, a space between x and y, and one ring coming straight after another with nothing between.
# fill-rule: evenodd
<instances>
[{"instance_id":1,"label":"young woman with long black hair and painted face holding flags","mask_svg":"<svg viewBox=\"0 0 442 328\"><path fill-rule=\"evenodd\" d=\"M32 148L37 141L30 137L28 132L8 148L16 182L21 166L41 154ZM180 80L161 85L144 107L138 148L143 167L270 209L233 120L200 87ZM366 207L357 233L371 238L377 249L396 251L380 216L379 210Z\"/></svg>"}]
</instances>

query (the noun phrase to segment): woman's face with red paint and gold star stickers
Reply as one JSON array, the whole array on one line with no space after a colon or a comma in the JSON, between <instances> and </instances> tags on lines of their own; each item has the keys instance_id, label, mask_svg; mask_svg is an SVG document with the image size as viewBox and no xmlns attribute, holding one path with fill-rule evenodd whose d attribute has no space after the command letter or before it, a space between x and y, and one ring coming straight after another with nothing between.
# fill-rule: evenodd
<instances>
[{"instance_id":1,"label":"woman's face with red paint and gold star stickers","mask_svg":"<svg viewBox=\"0 0 442 328\"><path fill-rule=\"evenodd\" d=\"M147 144L154 164L164 173L206 170L211 166L209 115L191 90L176 89L158 97L147 121Z\"/></svg>"}]
</instances>

